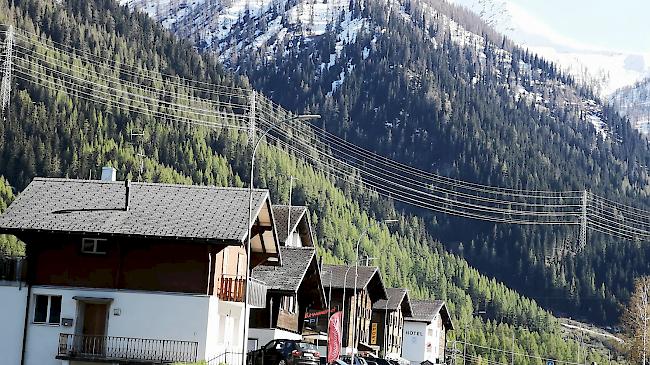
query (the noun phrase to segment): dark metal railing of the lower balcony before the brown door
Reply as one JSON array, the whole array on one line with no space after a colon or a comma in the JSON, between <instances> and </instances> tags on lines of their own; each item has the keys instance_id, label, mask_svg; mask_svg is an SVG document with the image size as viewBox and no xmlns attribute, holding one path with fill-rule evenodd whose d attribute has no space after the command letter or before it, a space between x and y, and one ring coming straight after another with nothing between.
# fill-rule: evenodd
<instances>
[{"instance_id":1,"label":"dark metal railing of the lower balcony before the brown door","mask_svg":"<svg viewBox=\"0 0 650 365\"><path fill-rule=\"evenodd\" d=\"M151 362L195 362L198 342L146 338L59 335L58 359Z\"/></svg>"}]
</instances>

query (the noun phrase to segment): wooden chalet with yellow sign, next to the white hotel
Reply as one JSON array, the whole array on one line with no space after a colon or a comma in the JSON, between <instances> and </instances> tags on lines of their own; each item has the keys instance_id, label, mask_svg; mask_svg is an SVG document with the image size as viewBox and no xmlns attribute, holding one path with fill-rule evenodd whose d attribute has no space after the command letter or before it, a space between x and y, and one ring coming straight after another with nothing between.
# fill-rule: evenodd
<instances>
[{"instance_id":1,"label":"wooden chalet with yellow sign, next to the white hotel","mask_svg":"<svg viewBox=\"0 0 650 365\"><path fill-rule=\"evenodd\" d=\"M411 317L411 302L404 288L386 289L388 300L381 299L372 306L371 345L379 346L379 353L386 358L402 356L404 317ZM372 334L376 333L376 336Z\"/></svg>"}]
</instances>

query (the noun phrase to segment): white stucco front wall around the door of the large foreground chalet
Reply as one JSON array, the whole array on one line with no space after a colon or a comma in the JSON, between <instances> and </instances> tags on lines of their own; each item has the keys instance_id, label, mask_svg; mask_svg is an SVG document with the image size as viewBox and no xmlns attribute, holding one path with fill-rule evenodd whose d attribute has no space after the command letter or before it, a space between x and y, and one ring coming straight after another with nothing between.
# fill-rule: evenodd
<instances>
[{"instance_id":1,"label":"white stucco front wall around the door of the large foreground chalet","mask_svg":"<svg viewBox=\"0 0 650 365\"><path fill-rule=\"evenodd\" d=\"M205 295L115 291L62 287L34 287L32 295L61 295L61 318L72 318L71 327L32 323L34 301L29 310L26 365L59 365L56 360L59 334L74 333L77 322L77 301L74 296L112 298L109 305L107 336L196 341L198 358L206 355L210 305L218 306ZM33 298L33 297L32 297ZM119 315L114 312L119 309ZM22 332L21 332L22 333Z\"/></svg>"}]
</instances>

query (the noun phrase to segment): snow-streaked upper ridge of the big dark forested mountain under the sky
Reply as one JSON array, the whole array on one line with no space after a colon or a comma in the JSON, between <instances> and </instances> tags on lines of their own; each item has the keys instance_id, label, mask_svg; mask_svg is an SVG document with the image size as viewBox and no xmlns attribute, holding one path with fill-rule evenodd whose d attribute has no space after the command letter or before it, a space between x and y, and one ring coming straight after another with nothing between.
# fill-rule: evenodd
<instances>
[{"instance_id":1,"label":"snow-streaked upper ridge of the big dark forested mountain under the sky","mask_svg":"<svg viewBox=\"0 0 650 365\"><path fill-rule=\"evenodd\" d=\"M410 1L372 1L397 9L400 17L413 23L419 21L412 18ZM354 9L354 1L348 0L122 0L122 3L146 12L177 35L192 40L197 48L215 51L233 70L238 70L242 62L252 62L251 55L256 62L270 62L286 57L292 49L307 48L328 33L335 39L335 45L319 67L320 76L324 78L336 70L327 92L331 96L345 82L356 63L369 57L373 45L386 33L385 28L364 15L364 6L372 6L372 1L360 1L359 9ZM558 116L562 110L577 108L583 120L593 125L600 136L608 136L602 107L594 96L578 95L576 88L566 87L562 80L546 79L544 72L532 62L513 61L511 49L497 44L499 36L496 33L492 37L479 35L481 27L478 25L470 30L454 20L454 16L468 17L467 11L442 0L420 1L419 5L424 21L436 25L435 34L433 30L425 30L424 34L434 46L444 47L448 37L454 44L475 53L482 70L494 72L512 91L515 100L535 103ZM489 28L481 31L494 33ZM372 35L370 42L363 45L362 59L342 59L342 50L355 43L361 32ZM495 60L486 57L486 47L496 52ZM516 52L522 51L517 49ZM537 58L531 55L531 59L533 57ZM340 67L333 67L335 65ZM515 78L509 75L514 68L518 72ZM480 81L480 74L472 80L473 83Z\"/></svg>"}]
</instances>

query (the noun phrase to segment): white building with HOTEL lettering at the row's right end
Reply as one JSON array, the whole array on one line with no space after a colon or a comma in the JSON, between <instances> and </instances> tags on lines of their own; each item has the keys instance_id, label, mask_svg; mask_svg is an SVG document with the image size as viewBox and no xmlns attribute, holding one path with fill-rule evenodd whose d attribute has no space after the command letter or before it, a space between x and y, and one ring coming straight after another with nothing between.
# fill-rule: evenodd
<instances>
[{"instance_id":1,"label":"white building with HOTEL lettering at the row's right end","mask_svg":"<svg viewBox=\"0 0 650 365\"><path fill-rule=\"evenodd\" d=\"M411 365L445 361L447 331L453 329L447 306L442 300L411 300L412 316L404 318L402 357Z\"/></svg>"}]
</instances>

